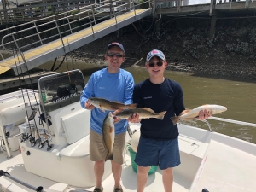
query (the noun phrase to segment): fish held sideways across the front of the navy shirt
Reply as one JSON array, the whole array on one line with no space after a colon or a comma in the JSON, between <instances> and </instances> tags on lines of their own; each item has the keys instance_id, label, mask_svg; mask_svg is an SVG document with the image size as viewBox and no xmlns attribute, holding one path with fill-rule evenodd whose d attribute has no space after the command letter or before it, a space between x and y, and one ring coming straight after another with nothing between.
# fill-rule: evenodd
<instances>
[{"instance_id":1,"label":"fish held sideways across the front of the navy shirt","mask_svg":"<svg viewBox=\"0 0 256 192\"><path fill-rule=\"evenodd\" d=\"M119 119L128 119L134 113L138 113L140 115L140 119L157 118L162 120L165 117L166 111L154 113L151 108L132 108L116 113L115 116Z\"/></svg>"}]
</instances>

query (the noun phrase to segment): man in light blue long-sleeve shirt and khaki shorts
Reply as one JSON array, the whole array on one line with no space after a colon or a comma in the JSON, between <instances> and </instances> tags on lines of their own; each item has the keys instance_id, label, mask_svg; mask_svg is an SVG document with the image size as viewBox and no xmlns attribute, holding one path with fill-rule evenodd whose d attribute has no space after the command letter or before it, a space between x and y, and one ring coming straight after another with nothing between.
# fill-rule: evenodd
<instances>
[{"instance_id":1,"label":"man in light blue long-sleeve shirt and khaki shorts","mask_svg":"<svg viewBox=\"0 0 256 192\"><path fill-rule=\"evenodd\" d=\"M90 97L101 97L109 101L132 103L132 91L134 79L131 73L120 68L125 61L125 49L122 44L108 44L105 60L108 67L92 73L88 83L85 85L80 98L83 108L91 109L90 117L90 160L95 161L94 172L96 177L96 188L94 192L102 192L102 176L104 163L108 151L102 143L102 123L108 111L102 112L94 108L87 100ZM118 113L118 110L113 114ZM122 192L120 177L123 164L123 150L125 148L125 134L127 120L115 119L115 138L113 145L112 172L115 181L114 192Z\"/></svg>"}]
</instances>

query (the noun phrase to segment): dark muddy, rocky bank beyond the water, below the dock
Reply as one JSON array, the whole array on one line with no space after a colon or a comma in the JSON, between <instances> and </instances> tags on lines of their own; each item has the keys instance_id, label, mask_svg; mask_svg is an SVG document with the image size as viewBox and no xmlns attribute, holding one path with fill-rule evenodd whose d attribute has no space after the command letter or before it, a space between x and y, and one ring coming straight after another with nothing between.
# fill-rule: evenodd
<instances>
[{"instance_id":1,"label":"dark muddy, rocky bank beyond the water, below the dock","mask_svg":"<svg viewBox=\"0 0 256 192\"><path fill-rule=\"evenodd\" d=\"M97 39L68 53L73 61L105 65L107 45L119 42L125 47L123 68L143 67L151 49L166 55L167 70L196 76L256 81L256 19L218 20L212 39L208 38L211 20L140 20L117 32Z\"/></svg>"}]
</instances>

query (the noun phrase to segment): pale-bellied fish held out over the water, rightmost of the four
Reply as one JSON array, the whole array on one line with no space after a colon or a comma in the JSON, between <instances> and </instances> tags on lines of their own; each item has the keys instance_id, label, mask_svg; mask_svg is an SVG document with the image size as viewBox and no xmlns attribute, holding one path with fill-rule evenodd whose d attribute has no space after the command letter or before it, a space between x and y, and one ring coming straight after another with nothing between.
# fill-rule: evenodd
<instances>
[{"instance_id":1,"label":"pale-bellied fish held out over the water, rightmost of the four","mask_svg":"<svg viewBox=\"0 0 256 192\"><path fill-rule=\"evenodd\" d=\"M187 110L188 113L184 113L183 115L171 117L172 123L173 125L176 125L177 122L180 120L193 120L199 116L199 112L201 110L207 110L207 112L211 112L212 114L217 114L217 113L222 113L226 111L227 108L221 105L211 105L211 104L202 105L192 110L188 109Z\"/></svg>"}]
</instances>

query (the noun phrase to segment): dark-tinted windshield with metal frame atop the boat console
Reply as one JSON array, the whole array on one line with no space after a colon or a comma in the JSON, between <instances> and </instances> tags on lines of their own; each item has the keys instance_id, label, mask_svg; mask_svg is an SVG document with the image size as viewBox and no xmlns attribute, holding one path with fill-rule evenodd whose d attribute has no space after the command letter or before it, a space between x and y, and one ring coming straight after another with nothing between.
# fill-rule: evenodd
<instances>
[{"instance_id":1,"label":"dark-tinted windshield with metal frame atop the boat console","mask_svg":"<svg viewBox=\"0 0 256 192\"><path fill-rule=\"evenodd\" d=\"M84 89L84 76L80 70L56 73L38 79L41 109L51 112L78 102Z\"/></svg>"}]
</instances>

